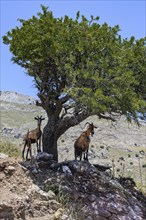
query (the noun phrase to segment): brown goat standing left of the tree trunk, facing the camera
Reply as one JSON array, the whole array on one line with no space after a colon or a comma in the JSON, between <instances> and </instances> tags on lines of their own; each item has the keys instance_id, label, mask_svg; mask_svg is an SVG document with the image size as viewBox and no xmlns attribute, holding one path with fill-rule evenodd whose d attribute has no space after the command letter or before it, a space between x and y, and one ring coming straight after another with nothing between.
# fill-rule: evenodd
<instances>
[{"instance_id":1,"label":"brown goat standing left of the tree trunk, facing the camera","mask_svg":"<svg viewBox=\"0 0 146 220\"><path fill-rule=\"evenodd\" d=\"M36 143L37 152L41 152L41 136L42 136L41 123L45 118L42 118L42 115L41 115L40 117L37 116L34 119L37 120L37 128L32 131L28 131L23 139L23 141L24 141L24 147L23 147L23 151L22 151L22 158L23 159L24 159L24 152L25 152L26 146L28 147L27 153L26 153L26 159L28 159L29 152L30 152L30 157L32 157L31 144Z\"/></svg>"}]
</instances>

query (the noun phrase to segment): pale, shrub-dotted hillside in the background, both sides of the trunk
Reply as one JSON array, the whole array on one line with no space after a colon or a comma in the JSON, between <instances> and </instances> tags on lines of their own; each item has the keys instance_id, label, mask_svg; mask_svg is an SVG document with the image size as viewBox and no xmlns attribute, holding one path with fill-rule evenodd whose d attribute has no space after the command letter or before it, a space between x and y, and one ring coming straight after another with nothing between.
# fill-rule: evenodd
<instances>
[{"instance_id":1,"label":"pale, shrub-dotted hillside in the background, both sides of the trunk","mask_svg":"<svg viewBox=\"0 0 146 220\"><path fill-rule=\"evenodd\" d=\"M32 97L15 92L1 92L1 139L14 143L21 150L23 136L36 127L34 117L43 115L47 122L44 110L35 106ZM141 127L128 124L124 117L112 124L106 120L99 120L96 116L89 117L80 125L70 128L58 140L59 161L74 159L74 142L82 132L84 124L94 122L98 126L91 139L89 160L92 164L99 163L115 166L115 176L132 177L136 184L146 191L145 164L146 164L146 123ZM3 145L1 147L1 151ZM36 148L34 147L34 154Z\"/></svg>"}]
</instances>

